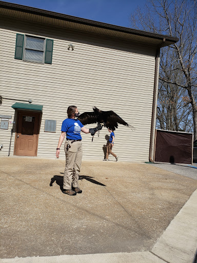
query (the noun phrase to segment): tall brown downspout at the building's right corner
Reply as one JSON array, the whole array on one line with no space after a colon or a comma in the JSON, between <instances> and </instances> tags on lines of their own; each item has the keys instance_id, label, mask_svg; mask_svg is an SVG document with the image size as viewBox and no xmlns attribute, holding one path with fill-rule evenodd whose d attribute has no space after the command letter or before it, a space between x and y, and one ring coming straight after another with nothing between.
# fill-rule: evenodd
<instances>
[{"instance_id":1,"label":"tall brown downspout at the building's right corner","mask_svg":"<svg viewBox=\"0 0 197 263\"><path fill-rule=\"evenodd\" d=\"M154 91L153 91L153 103L152 103L152 120L150 130L150 148L149 148L149 161L154 162L154 140L155 140L155 127L156 127L156 105L159 83L159 71L160 71L160 49L164 45L166 39L163 39L162 44L157 48L155 55L155 70L154 70Z\"/></svg>"}]
</instances>

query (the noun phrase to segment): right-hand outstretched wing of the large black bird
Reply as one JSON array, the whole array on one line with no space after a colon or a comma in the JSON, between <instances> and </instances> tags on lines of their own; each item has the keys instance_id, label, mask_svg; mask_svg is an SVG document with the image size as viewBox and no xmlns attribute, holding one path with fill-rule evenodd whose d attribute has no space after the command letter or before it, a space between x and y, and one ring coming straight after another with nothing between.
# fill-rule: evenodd
<instances>
[{"instance_id":1,"label":"right-hand outstretched wing of the large black bird","mask_svg":"<svg viewBox=\"0 0 197 263\"><path fill-rule=\"evenodd\" d=\"M119 115L117 115L113 110L103 111L103 114L106 117L106 123L105 124L106 124L107 128L115 130L115 128L117 128L119 126L118 123L120 123L120 124L123 124L125 126L128 126L132 130L135 129L133 126L128 124L126 121L124 121Z\"/></svg>"}]
</instances>

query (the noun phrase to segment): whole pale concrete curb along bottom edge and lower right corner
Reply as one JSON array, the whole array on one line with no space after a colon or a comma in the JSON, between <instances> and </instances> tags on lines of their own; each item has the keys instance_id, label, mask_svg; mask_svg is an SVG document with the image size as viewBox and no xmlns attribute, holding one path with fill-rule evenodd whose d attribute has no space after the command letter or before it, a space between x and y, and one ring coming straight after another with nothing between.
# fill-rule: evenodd
<instances>
[{"instance_id":1,"label":"whole pale concrete curb along bottom edge and lower right corner","mask_svg":"<svg viewBox=\"0 0 197 263\"><path fill-rule=\"evenodd\" d=\"M151 252L61 255L1 259L1 263L191 263L197 245L197 190L174 217Z\"/></svg>"}]
</instances>

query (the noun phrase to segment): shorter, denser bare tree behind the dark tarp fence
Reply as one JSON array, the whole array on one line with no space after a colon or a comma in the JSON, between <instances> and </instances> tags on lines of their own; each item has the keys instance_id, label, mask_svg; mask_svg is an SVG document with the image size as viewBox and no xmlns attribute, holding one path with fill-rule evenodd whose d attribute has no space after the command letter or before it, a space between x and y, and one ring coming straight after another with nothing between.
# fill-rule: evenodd
<instances>
[{"instance_id":1,"label":"shorter, denser bare tree behind the dark tarp fence","mask_svg":"<svg viewBox=\"0 0 197 263\"><path fill-rule=\"evenodd\" d=\"M185 125L186 123L189 125L192 118L192 107L188 103L186 89L162 80L167 78L174 83L183 81L183 72L176 70L179 61L176 60L175 55L170 47L165 47L161 51L156 127L191 132L191 129Z\"/></svg>"}]
</instances>

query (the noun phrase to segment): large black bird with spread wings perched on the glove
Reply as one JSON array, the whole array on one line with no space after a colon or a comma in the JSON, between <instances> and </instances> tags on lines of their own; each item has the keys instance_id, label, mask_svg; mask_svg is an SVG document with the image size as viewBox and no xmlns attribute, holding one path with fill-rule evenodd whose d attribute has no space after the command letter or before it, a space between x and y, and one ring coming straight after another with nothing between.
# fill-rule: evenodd
<instances>
[{"instance_id":1,"label":"large black bird with spread wings perched on the glove","mask_svg":"<svg viewBox=\"0 0 197 263\"><path fill-rule=\"evenodd\" d=\"M118 123L123 124L125 126L134 129L130 124L125 122L119 115L117 115L113 110L104 111L93 107L94 111L84 112L77 119L81 121L83 125L98 123L103 124L105 127L115 130L117 128Z\"/></svg>"}]
</instances>

